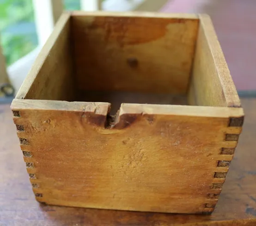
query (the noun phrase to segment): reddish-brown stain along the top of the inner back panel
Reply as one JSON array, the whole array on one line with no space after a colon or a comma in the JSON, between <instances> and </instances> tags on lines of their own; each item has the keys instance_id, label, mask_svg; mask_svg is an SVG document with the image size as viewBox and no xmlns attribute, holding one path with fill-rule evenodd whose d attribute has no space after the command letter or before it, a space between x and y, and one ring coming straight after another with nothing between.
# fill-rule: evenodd
<instances>
[{"instance_id":1,"label":"reddish-brown stain along the top of the inner back panel","mask_svg":"<svg viewBox=\"0 0 256 226\"><path fill-rule=\"evenodd\" d=\"M118 43L123 48L126 45L138 45L158 40L165 36L169 24L185 24L189 20L192 19L96 17L88 26L87 32L102 30L105 42ZM195 23L197 23L196 20ZM154 32L152 32L152 27L154 27Z\"/></svg>"}]
</instances>

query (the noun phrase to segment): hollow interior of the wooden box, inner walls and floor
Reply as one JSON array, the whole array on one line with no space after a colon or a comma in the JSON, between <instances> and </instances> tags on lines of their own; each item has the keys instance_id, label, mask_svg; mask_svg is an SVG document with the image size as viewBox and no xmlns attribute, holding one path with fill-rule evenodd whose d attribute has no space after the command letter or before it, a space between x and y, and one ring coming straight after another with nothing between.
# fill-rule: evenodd
<instances>
[{"instance_id":1,"label":"hollow interior of the wooden box, inner walls and floor","mask_svg":"<svg viewBox=\"0 0 256 226\"><path fill-rule=\"evenodd\" d=\"M24 99L227 106L196 16L73 14L54 32Z\"/></svg>"}]
</instances>

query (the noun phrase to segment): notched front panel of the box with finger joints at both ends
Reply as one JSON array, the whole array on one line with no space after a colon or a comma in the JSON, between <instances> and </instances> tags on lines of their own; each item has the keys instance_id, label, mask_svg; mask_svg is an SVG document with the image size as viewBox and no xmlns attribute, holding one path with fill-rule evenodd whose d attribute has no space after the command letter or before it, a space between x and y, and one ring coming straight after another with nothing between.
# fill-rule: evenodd
<instances>
[{"instance_id":1,"label":"notched front panel of the box with finger joints at both ends","mask_svg":"<svg viewBox=\"0 0 256 226\"><path fill-rule=\"evenodd\" d=\"M125 104L106 128L104 103L24 103L12 111L36 198L65 206L212 212L243 123L240 108L203 117Z\"/></svg>"}]
</instances>

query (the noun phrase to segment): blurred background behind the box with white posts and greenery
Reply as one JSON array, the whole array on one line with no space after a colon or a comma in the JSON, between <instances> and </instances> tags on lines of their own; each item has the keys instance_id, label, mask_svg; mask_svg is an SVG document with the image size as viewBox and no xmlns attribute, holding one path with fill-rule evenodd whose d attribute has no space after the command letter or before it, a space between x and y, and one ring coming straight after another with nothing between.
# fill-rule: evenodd
<instances>
[{"instance_id":1,"label":"blurred background behind the box with white posts and greenery","mask_svg":"<svg viewBox=\"0 0 256 226\"><path fill-rule=\"evenodd\" d=\"M256 0L0 0L0 83L16 90L63 10L207 13L241 95L256 90Z\"/></svg>"}]
</instances>

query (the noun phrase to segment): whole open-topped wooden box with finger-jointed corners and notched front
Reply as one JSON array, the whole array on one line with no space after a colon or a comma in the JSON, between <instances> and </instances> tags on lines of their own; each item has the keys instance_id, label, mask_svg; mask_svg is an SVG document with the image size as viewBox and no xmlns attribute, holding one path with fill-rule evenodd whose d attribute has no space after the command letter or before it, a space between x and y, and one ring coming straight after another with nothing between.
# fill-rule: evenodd
<instances>
[{"instance_id":1,"label":"whole open-topped wooden box with finger-jointed corners and notched front","mask_svg":"<svg viewBox=\"0 0 256 226\"><path fill-rule=\"evenodd\" d=\"M64 13L12 102L39 202L211 213L244 112L206 15Z\"/></svg>"}]
</instances>

